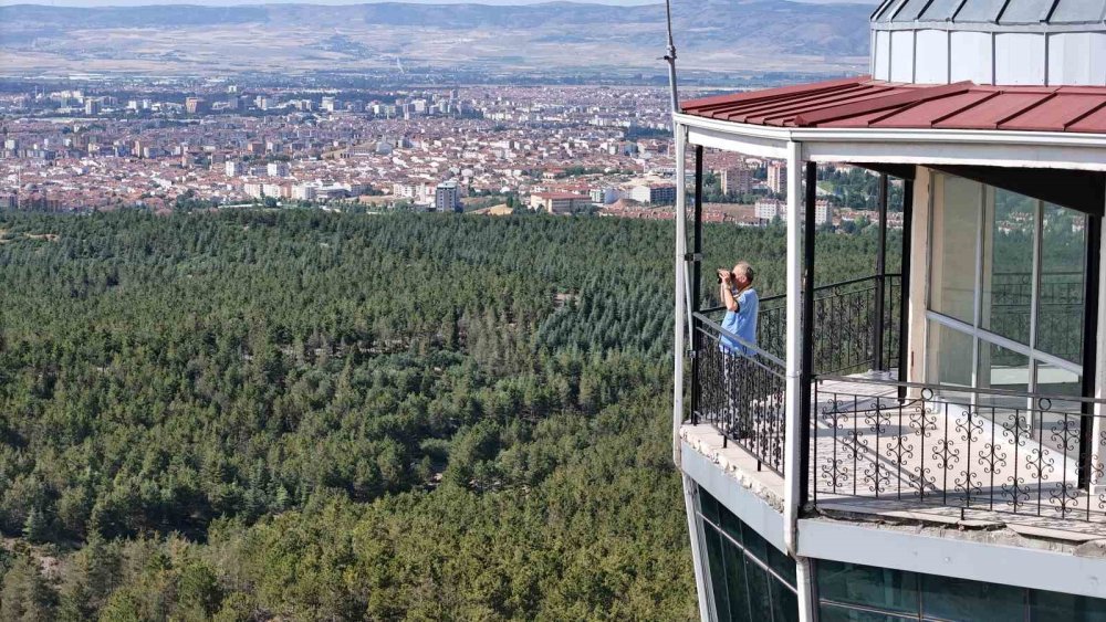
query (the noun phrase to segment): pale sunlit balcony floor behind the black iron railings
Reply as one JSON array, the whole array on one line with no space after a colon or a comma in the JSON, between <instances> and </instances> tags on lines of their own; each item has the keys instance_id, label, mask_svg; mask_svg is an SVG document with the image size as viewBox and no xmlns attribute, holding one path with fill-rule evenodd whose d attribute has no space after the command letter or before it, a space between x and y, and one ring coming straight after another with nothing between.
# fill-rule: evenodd
<instances>
[{"instance_id":1,"label":"pale sunlit balcony floor behind the black iron railings","mask_svg":"<svg viewBox=\"0 0 1106 622\"><path fill-rule=\"evenodd\" d=\"M1005 526L1073 542L1106 538L1106 493L1076 486L1077 424L1026 430L1024 422L1011 424L1012 418L980 414L988 409L909 399L900 405L896 386L859 381L894 376L868 372L851 377L857 381L818 384L811 461L811 500L818 513ZM782 503L783 478L758 471L757 458L738 443L723 443L712 425L685 425L681 436L747 488ZM1102 470L1096 464L1096 473Z\"/></svg>"}]
</instances>

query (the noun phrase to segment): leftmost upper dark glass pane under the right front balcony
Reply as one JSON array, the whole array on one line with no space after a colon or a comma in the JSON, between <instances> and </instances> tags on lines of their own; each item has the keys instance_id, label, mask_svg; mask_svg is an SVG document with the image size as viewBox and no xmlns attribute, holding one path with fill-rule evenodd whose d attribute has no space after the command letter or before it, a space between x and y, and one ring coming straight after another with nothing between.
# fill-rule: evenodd
<instances>
[{"instance_id":1,"label":"leftmost upper dark glass pane under the right front balcony","mask_svg":"<svg viewBox=\"0 0 1106 622\"><path fill-rule=\"evenodd\" d=\"M918 613L918 576L914 572L820 560L817 581L824 600Z\"/></svg>"}]
</instances>

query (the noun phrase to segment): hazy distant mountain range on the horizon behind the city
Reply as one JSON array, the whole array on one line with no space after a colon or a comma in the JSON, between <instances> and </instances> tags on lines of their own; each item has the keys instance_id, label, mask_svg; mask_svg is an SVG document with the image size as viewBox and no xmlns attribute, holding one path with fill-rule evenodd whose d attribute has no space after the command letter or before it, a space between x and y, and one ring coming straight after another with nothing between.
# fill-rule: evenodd
<instances>
[{"instance_id":1,"label":"hazy distant mountain range on the horizon behind the city","mask_svg":"<svg viewBox=\"0 0 1106 622\"><path fill-rule=\"evenodd\" d=\"M677 0L680 66L759 74L863 68L867 4ZM0 7L2 73L662 71L662 4L375 3Z\"/></svg>"}]
</instances>

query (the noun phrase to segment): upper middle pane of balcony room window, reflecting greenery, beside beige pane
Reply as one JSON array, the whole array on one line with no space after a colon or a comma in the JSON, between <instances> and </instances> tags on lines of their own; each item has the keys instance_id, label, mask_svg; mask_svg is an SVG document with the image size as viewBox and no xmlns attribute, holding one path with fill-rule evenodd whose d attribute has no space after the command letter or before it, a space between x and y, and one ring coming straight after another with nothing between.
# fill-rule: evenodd
<instances>
[{"instance_id":1,"label":"upper middle pane of balcony room window, reflecting greenery, beside beige pane","mask_svg":"<svg viewBox=\"0 0 1106 622\"><path fill-rule=\"evenodd\" d=\"M981 326L1030 342L1036 199L988 187Z\"/></svg>"}]
</instances>

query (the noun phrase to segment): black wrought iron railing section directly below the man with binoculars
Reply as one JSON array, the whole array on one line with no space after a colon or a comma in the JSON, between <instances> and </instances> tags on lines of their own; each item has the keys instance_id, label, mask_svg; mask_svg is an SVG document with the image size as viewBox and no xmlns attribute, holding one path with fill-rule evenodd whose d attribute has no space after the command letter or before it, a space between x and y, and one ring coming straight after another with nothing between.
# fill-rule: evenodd
<instances>
[{"instance_id":1,"label":"black wrought iron railing section directly below the man with binoculars","mask_svg":"<svg viewBox=\"0 0 1106 622\"><path fill-rule=\"evenodd\" d=\"M695 314L691 418L714 425L783 475L786 401L783 361L743 342L703 314Z\"/></svg>"}]
</instances>

